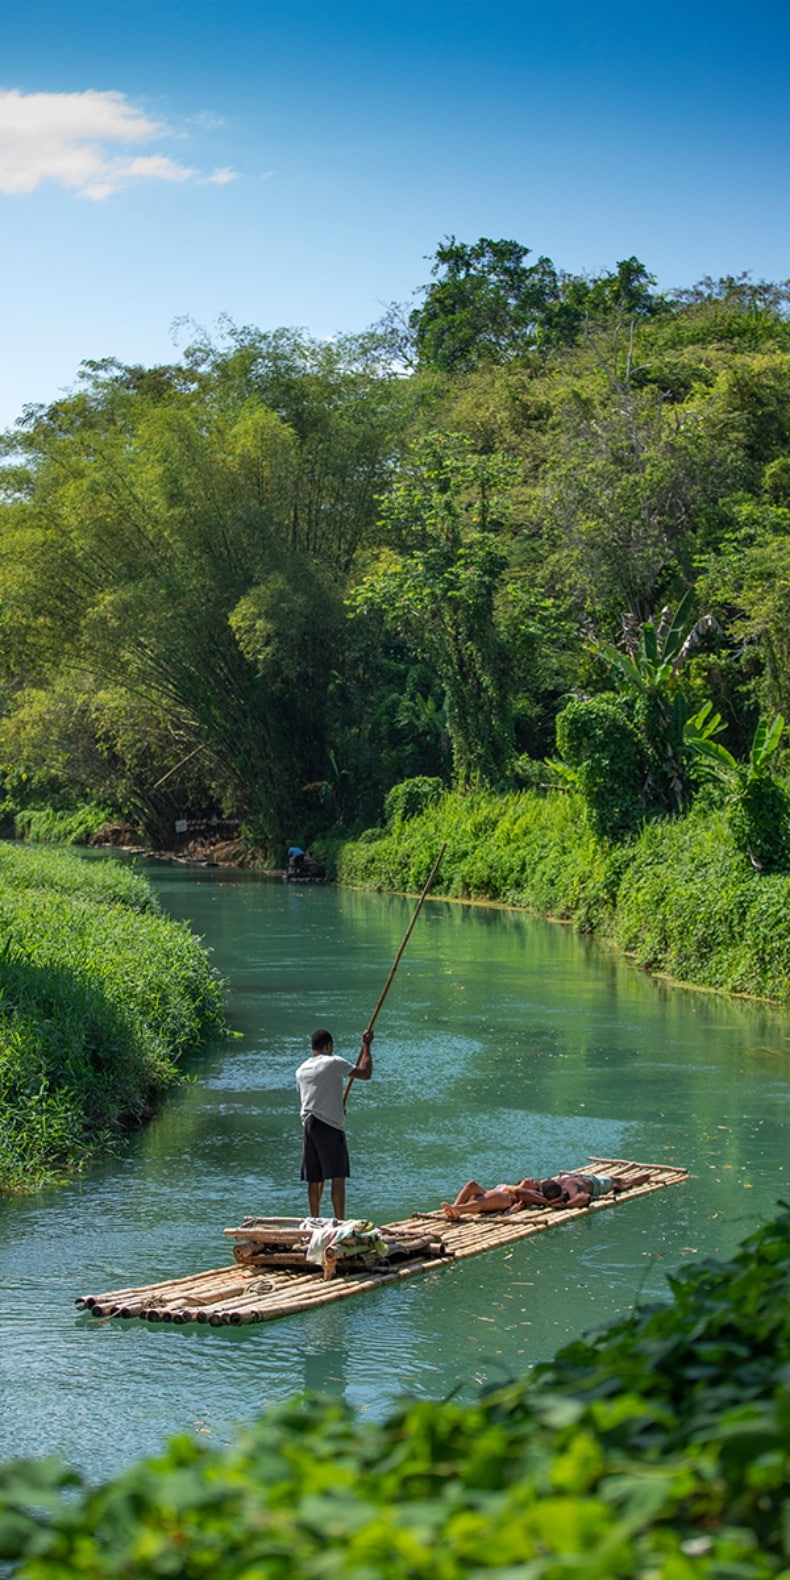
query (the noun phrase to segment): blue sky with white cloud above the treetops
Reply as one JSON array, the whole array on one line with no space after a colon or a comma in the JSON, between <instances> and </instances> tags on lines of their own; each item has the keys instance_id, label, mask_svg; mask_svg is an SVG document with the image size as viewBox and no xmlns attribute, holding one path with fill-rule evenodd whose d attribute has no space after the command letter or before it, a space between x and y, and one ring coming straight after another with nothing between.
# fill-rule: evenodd
<instances>
[{"instance_id":1,"label":"blue sky with white cloud above the treetops","mask_svg":"<svg viewBox=\"0 0 790 1580\"><path fill-rule=\"evenodd\" d=\"M5 0L0 428L190 325L362 330L444 237L790 276L790 6Z\"/></svg>"}]
</instances>

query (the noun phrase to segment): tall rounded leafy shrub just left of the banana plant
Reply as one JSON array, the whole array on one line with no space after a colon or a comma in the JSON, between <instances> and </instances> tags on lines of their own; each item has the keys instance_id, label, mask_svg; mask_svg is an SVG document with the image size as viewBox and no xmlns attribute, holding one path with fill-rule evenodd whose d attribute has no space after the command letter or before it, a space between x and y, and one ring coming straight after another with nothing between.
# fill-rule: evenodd
<instances>
[{"instance_id":1,"label":"tall rounded leafy shrub just left of the banana plant","mask_svg":"<svg viewBox=\"0 0 790 1580\"><path fill-rule=\"evenodd\" d=\"M599 839L626 839L645 818L645 754L611 697L570 702L558 714L556 744L575 769L589 825Z\"/></svg>"}]
</instances>

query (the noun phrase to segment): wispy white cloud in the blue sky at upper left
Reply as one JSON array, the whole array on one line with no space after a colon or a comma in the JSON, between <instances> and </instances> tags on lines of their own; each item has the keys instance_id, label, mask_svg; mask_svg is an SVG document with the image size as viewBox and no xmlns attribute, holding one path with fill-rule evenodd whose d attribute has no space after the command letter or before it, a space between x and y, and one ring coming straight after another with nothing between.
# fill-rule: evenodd
<instances>
[{"instance_id":1,"label":"wispy white cloud in the blue sky at upper left","mask_svg":"<svg viewBox=\"0 0 790 1580\"><path fill-rule=\"evenodd\" d=\"M204 177L164 153L130 152L166 131L123 93L0 88L0 191L13 198L55 182L77 198L101 202L128 182L234 180L231 169Z\"/></svg>"}]
</instances>

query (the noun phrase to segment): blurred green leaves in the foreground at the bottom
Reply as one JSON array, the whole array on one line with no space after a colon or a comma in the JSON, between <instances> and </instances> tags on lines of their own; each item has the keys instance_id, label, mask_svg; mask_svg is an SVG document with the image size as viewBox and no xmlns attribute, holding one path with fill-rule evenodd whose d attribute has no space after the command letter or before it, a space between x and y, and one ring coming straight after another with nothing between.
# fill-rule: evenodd
<instances>
[{"instance_id":1,"label":"blurred green leaves in the foreground at the bottom","mask_svg":"<svg viewBox=\"0 0 790 1580\"><path fill-rule=\"evenodd\" d=\"M768 1580L790 1550L790 1215L476 1405L269 1411L84 1488L0 1468L21 1580Z\"/></svg>"}]
</instances>

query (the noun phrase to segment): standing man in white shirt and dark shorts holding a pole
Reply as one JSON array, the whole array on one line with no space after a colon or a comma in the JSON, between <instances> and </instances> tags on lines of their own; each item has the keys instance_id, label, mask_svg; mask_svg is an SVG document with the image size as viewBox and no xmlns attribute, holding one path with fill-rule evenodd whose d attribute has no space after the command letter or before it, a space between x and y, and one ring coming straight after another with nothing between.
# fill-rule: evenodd
<instances>
[{"instance_id":1,"label":"standing man in white shirt and dark shorts holding a pole","mask_svg":"<svg viewBox=\"0 0 790 1580\"><path fill-rule=\"evenodd\" d=\"M373 1032L362 1033L362 1048L356 1065L333 1052L332 1032L313 1032L313 1052L297 1070L297 1087L302 1101L300 1117L305 1130L302 1142L302 1174L307 1180L310 1217L321 1217L324 1180L332 1180L332 1210L335 1218L346 1217L346 1180L351 1164L346 1146L346 1112L343 1108L343 1082L370 1081L373 1057L370 1044Z\"/></svg>"}]
</instances>

